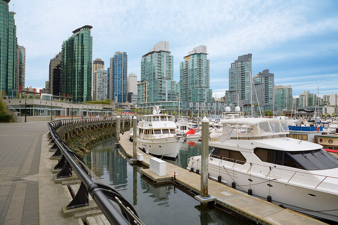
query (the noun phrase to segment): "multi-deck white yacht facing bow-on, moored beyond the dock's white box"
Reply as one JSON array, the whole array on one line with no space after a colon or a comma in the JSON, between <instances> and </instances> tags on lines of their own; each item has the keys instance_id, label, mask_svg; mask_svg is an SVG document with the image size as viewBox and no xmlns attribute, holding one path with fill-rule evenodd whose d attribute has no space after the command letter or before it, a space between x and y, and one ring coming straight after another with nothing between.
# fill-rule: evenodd
<instances>
[{"instance_id":1,"label":"multi-deck white yacht facing bow-on, moored beyond the dock's white box","mask_svg":"<svg viewBox=\"0 0 338 225\"><path fill-rule=\"evenodd\" d=\"M137 126L137 147L150 155L176 158L184 138L176 133L174 117L161 114L159 106L154 108L153 115L143 116Z\"/></svg>"}]
</instances>

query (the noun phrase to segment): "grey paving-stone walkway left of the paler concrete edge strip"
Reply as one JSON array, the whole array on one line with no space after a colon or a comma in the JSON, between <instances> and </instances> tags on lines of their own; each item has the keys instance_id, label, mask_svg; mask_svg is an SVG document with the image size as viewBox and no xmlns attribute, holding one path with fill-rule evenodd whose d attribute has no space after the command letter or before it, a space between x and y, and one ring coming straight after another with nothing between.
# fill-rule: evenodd
<instances>
[{"instance_id":1,"label":"grey paving-stone walkway left of the paler concrete edge strip","mask_svg":"<svg viewBox=\"0 0 338 225\"><path fill-rule=\"evenodd\" d=\"M0 123L0 224L38 224L38 171L48 121Z\"/></svg>"}]
</instances>

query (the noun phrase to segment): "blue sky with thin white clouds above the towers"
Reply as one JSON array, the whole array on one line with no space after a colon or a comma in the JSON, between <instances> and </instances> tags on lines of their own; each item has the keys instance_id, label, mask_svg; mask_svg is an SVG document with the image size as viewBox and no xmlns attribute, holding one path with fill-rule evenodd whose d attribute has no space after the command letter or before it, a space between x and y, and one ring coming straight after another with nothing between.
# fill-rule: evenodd
<instances>
[{"instance_id":1,"label":"blue sky with thin white clouds above the towers","mask_svg":"<svg viewBox=\"0 0 338 225\"><path fill-rule=\"evenodd\" d=\"M275 85L293 95L338 94L338 1L111 1L11 0L18 44L26 48L26 86L42 89L49 61L72 31L91 25L93 60L105 67L116 51L127 52L128 74L140 79L141 57L169 42L174 79L179 62L206 45L213 97L228 89L228 70L252 53L252 74L274 73Z\"/></svg>"}]
</instances>

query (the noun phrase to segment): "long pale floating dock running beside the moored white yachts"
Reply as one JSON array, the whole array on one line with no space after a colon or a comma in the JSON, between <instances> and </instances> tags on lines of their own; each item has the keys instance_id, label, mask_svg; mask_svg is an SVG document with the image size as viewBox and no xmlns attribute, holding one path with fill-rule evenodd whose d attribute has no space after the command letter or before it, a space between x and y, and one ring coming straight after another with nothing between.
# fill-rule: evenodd
<instances>
[{"instance_id":1,"label":"long pale floating dock running beside the moored white yachts","mask_svg":"<svg viewBox=\"0 0 338 225\"><path fill-rule=\"evenodd\" d=\"M127 131L122 135L120 146L123 151L122 153L127 157L132 158L132 143L129 142L129 133L130 131ZM143 161L141 161L141 163L149 167L149 158L153 156L150 156L141 150L138 152L143 154ZM174 181L175 174L175 182L185 186L193 192L200 193L200 175L170 163L166 164L166 170L166 176L161 177L154 174L149 169L142 169L141 173L151 179L154 183ZM208 183L208 194L216 198L216 204L257 223L264 225L326 224L296 211L284 209L268 201L243 194L236 189L216 181L209 180Z\"/></svg>"}]
</instances>

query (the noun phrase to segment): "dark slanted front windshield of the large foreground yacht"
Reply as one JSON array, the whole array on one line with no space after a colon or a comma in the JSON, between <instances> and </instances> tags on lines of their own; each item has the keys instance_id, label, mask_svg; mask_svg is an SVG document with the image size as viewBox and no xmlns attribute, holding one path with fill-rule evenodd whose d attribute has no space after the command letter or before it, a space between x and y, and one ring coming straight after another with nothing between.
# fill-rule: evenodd
<instances>
[{"instance_id":1,"label":"dark slanted front windshield of the large foreground yacht","mask_svg":"<svg viewBox=\"0 0 338 225\"><path fill-rule=\"evenodd\" d=\"M338 168L338 158L322 149L286 152L306 170L327 170Z\"/></svg>"}]
</instances>

